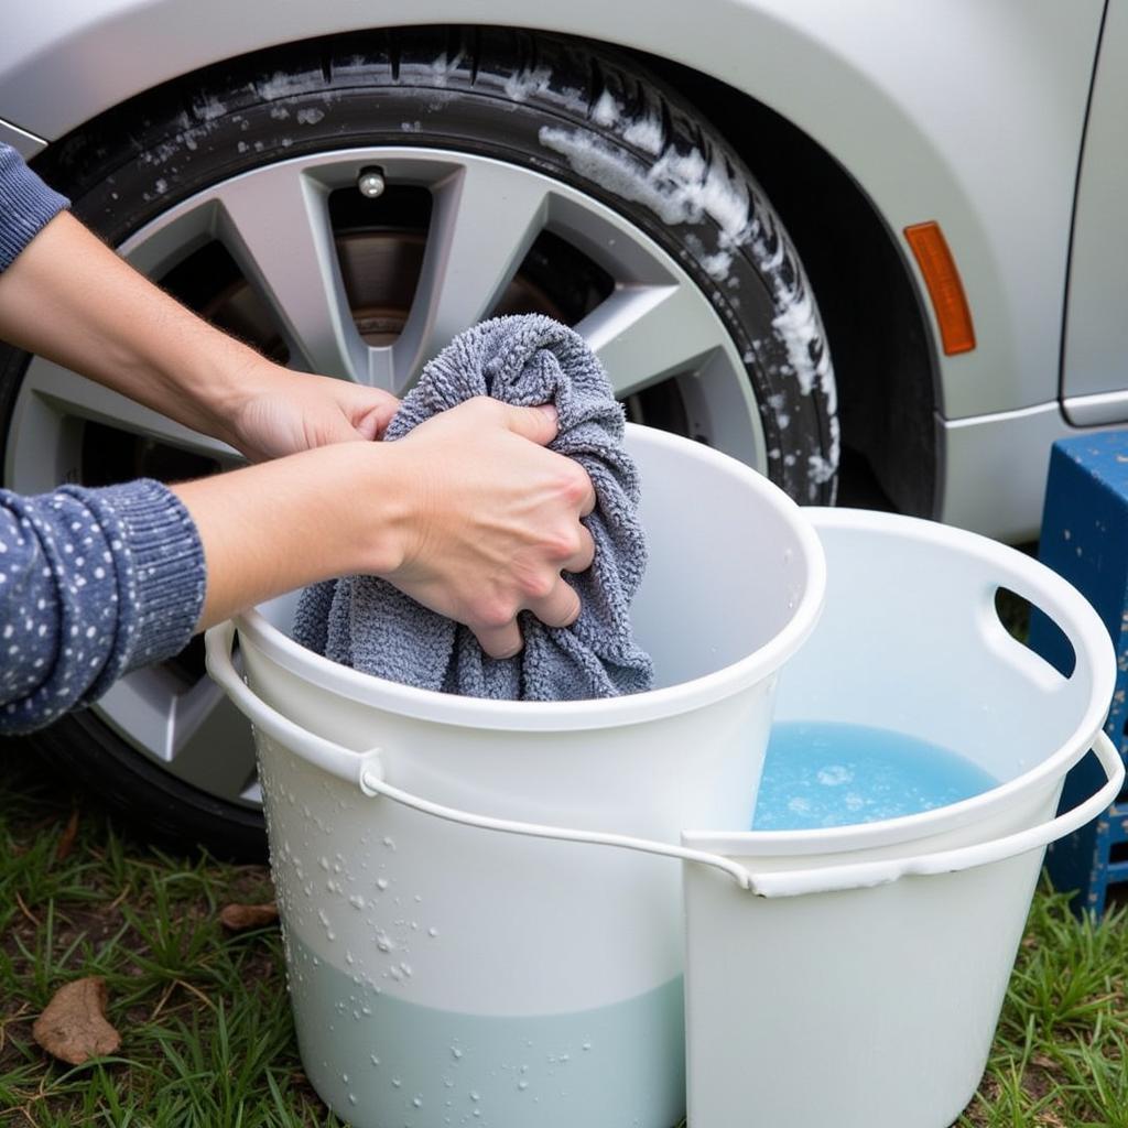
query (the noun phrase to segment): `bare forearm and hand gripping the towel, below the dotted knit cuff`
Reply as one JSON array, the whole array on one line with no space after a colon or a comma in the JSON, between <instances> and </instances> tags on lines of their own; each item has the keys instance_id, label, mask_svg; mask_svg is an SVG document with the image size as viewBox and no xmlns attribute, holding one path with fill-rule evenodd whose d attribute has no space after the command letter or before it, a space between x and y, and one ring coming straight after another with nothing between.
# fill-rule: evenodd
<instances>
[{"instance_id":1,"label":"bare forearm and hand gripping the towel, below the dotted knit cuff","mask_svg":"<svg viewBox=\"0 0 1128 1128\"><path fill-rule=\"evenodd\" d=\"M395 442L331 442L174 486L208 564L199 628L358 573L465 623L494 658L521 649L522 609L567 626L580 599L561 572L591 566L580 518L596 495L579 462L545 450L555 434L553 408L482 397Z\"/></svg>"}]
</instances>

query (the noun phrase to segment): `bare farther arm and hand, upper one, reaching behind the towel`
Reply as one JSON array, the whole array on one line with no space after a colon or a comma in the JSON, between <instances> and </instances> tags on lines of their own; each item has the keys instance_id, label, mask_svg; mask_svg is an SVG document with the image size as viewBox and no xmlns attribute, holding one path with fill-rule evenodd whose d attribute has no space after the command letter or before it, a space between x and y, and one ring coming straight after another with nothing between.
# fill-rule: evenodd
<instances>
[{"instance_id":1,"label":"bare farther arm and hand, upper one, reaching behind the towel","mask_svg":"<svg viewBox=\"0 0 1128 1128\"><path fill-rule=\"evenodd\" d=\"M385 391L272 363L155 287L67 212L0 274L0 340L255 461L376 439L398 406Z\"/></svg>"}]
</instances>

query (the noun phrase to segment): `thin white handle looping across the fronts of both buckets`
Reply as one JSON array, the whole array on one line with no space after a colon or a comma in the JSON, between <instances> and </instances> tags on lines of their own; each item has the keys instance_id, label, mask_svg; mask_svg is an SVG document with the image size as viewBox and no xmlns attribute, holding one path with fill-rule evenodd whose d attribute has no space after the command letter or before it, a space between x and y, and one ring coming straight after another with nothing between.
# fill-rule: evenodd
<instances>
[{"instance_id":1,"label":"thin white handle looping across the fronts of both buckets","mask_svg":"<svg viewBox=\"0 0 1128 1128\"><path fill-rule=\"evenodd\" d=\"M559 841L584 843L594 846L615 846L622 849L675 857L682 862L711 865L729 874L741 889L759 897L797 897L807 893L839 892L849 889L865 889L889 884L900 878L929 876L971 870L993 862L1002 862L1019 854L1040 849L1057 841L1107 810L1117 799L1125 782L1125 766L1116 746L1100 732L1092 749L1107 776L1104 786L1085 802L1049 822L1028 827L1016 834L996 838L988 843L973 843L954 849L920 854L904 858L882 858L874 862L854 862L845 865L825 865L810 870L784 870L752 873L739 862L722 854L672 846L667 843L627 835L606 834L596 830L571 830L564 827L540 826L535 822L519 822L512 819L496 819L475 814L452 807L443 807L402 791L385 779L384 761L379 748L355 751L302 729L266 704L243 680L231 661L235 642L235 624L230 620L212 627L208 632L208 672L227 691L239 711L254 725L285 746L302 759L316 765L331 775L358 787L363 794L381 795L423 814L431 814L448 822L496 830L503 834L522 835L531 838L548 838Z\"/></svg>"}]
</instances>

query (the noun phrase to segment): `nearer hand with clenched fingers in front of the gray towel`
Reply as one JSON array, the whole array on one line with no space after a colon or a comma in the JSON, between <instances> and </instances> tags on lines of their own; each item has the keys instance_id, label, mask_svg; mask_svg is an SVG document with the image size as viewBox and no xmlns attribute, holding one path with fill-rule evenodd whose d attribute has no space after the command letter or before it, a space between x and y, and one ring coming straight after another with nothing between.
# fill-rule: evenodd
<instances>
[{"instance_id":1,"label":"nearer hand with clenched fingers in front of the gray towel","mask_svg":"<svg viewBox=\"0 0 1128 1128\"><path fill-rule=\"evenodd\" d=\"M561 572L591 566L580 518L594 491L583 468L545 450L556 412L478 397L389 443L409 485L403 558L385 573L413 599L465 623L494 658L521 650L517 614L567 626L580 599Z\"/></svg>"}]
</instances>

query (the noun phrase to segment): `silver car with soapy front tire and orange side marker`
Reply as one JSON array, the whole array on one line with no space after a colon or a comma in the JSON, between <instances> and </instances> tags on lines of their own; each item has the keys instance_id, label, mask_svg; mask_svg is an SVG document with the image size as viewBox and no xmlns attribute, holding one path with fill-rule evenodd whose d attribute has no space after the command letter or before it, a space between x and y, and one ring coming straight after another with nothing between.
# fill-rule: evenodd
<instances>
[{"instance_id":1,"label":"silver car with soapy front tire and orange side marker","mask_svg":"<svg viewBox=\"0 0 1128 1128\"><path fill-rule=\"evenodd\" d=\"M538 310L631 418L802 503L1021 541L1050 443L1128 420L1126 53L1102 0L46 0L6 20L0 140L296 369L402 394ZM11 349L0 443L25 493L237 462ZM157 832L262 849L199 641L41 741Z\"/></svg>"}]
</instances>

